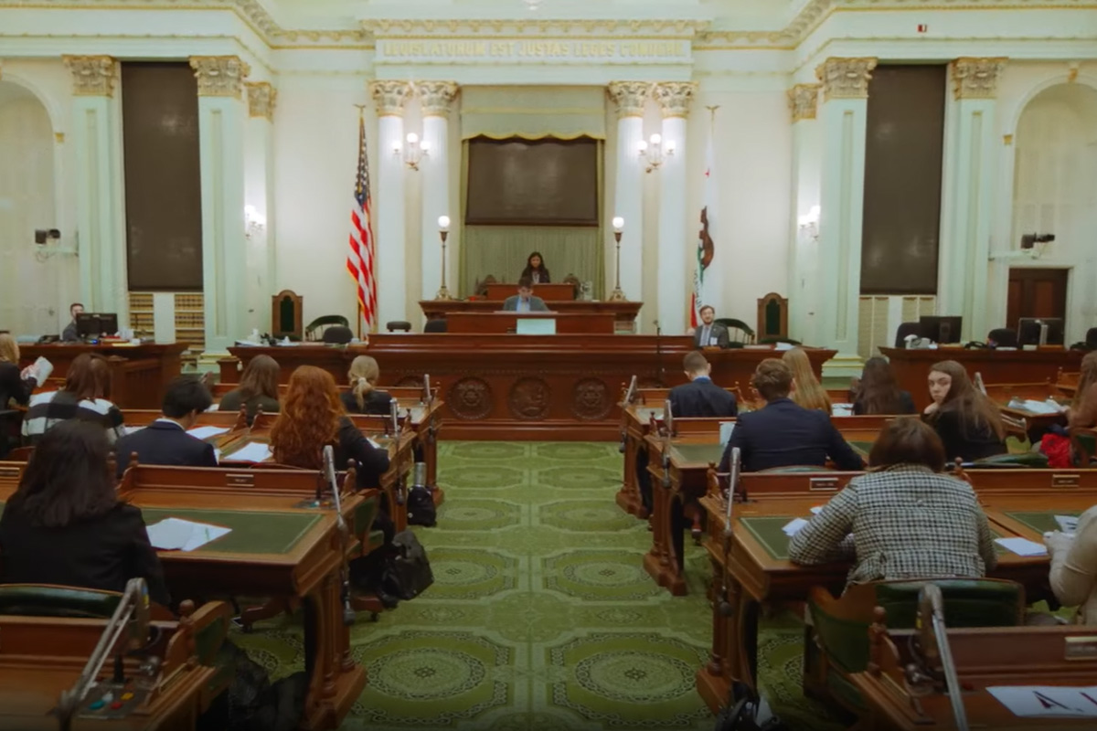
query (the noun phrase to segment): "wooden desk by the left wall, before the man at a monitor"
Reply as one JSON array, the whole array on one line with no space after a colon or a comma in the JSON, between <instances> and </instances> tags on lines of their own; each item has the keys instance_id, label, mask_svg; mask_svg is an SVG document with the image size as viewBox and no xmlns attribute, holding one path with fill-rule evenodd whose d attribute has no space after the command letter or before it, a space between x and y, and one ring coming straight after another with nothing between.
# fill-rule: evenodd
<instances>
[{"instance_id":1,"label":"wooden desk by the left wall, before the man at a monitor","mask_svg":"<svg viewBox=\"0 0 1097 731\"><path fill-rule=\"evenodd\" d=\"M98 353L106 358L111 370L111 400L120 409L159 409L167 386L179 376L181 354L186 343L148 345L82 345L58 343L21 345L20 366L38 357L54 364L50 379L63 379L72 361L83 353ZM53 390L53 389L50 389Z\"/></svg>"}]
</instances>

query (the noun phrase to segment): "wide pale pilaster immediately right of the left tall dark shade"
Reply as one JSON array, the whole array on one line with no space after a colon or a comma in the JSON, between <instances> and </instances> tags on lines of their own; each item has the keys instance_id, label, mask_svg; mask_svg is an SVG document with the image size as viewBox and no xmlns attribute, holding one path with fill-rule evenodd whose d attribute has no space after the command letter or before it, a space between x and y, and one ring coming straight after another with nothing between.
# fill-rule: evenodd
<instances>
[{"instance_id":1,"label":"wide pale pilaster immediately right of the left tall dark shade","mask_svg":"<svg viewBox=\"0 0 1097 731\"><path fill-rule=\"evenodd\" d=\"M227 352L248 328L244 149L248 110L236 56L192 56L199 81L199 155L202 171L202 294L205 350Z\"/></svg>"}]
</instances>

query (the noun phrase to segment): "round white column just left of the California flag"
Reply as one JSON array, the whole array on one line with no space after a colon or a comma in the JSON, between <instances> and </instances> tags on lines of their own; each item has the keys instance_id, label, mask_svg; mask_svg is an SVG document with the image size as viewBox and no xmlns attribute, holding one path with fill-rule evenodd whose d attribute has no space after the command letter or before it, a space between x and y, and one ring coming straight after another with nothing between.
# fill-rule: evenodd
<instances>
[{"instance_id":1,"label":"round white column just left of the California flag","mask_svg":"<svg viewBox=\"0 0 1097 731\"><path fill-rule=\"evenodd\" d=\"M687 225L686 212L686 119L689 103L697 84L691 81L671 81L656 84L655 100L663 111L664 150L659 165L659 299L658 317L663 331L670 334L686 332L689 327L689 289L686 263L695 258L697 241Z\"/></svg>"}]
</instances>

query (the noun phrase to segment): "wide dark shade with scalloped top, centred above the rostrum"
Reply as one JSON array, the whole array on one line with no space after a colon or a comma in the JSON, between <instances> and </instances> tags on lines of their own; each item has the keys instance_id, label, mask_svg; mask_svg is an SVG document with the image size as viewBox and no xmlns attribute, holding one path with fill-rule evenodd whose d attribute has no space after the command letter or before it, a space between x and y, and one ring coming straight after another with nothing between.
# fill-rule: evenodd
<instances>
[{"instance_id":1,"label":"wide dark shade with scalloped top, centred above the rostrum","mask_svg":"<svg viewBox=\"0 0 1097 731\"><path fill-rule=\"evenodd\" d=\"M467 185L466 224L598 226L598 142L476 137Z\"/></svg>"}]
</instances>

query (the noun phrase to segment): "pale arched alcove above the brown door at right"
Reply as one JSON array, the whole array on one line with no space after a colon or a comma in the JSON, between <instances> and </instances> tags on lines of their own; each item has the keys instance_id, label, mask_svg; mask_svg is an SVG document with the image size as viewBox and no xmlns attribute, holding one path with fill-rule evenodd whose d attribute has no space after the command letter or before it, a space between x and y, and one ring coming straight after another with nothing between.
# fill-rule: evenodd
<instances>
[{"instance_id":1,"label":"pale arched alcove above the brown door at right","mask_svg":"<svg viewBox=\"0 0 1097 731\"><path fill-rule=\"evenodd\" d=\"M1078 340L1097 319L1097 89L1061 83L1036 94L1021 111L1014 145L1011 240L1055 236L1032 265L1071 269L1067 336Z\"/></svg>"}]
</instances>

